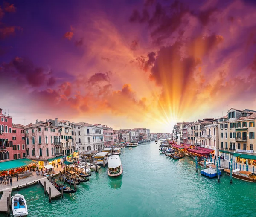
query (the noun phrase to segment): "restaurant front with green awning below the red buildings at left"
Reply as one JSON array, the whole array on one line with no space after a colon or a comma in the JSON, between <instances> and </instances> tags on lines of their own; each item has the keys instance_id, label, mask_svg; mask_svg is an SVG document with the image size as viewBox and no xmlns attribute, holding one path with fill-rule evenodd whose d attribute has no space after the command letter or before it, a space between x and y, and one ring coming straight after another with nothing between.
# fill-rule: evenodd
<instances>
[{"instance_id":1,"label":"restaurant front with green awning below the red buildings at left","mask_svg":"<svg viewBox=\"0 0 256 217\"><path fill-rule=\"evenodd\" d=\"M36 162L27 158L1 162L0 175L29 174L30 171L34 171L36 166Z\"/></svg>"}]
</instances>

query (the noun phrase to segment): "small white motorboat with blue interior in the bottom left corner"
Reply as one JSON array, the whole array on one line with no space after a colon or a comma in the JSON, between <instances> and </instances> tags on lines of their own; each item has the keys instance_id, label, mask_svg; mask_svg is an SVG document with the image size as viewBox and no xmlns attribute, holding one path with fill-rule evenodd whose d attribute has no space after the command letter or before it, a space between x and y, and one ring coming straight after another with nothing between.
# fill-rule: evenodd
<instances>
[{"instance_id":1,"label":"small white motorboat with blue interior in the bottom left corner","mask_svg":"<svg viewBox=\"0 0 256 217\"><path fill-rule=\"evenodd\" d=\"M28 208L24 196L21 194L15 194L11 198L13 216L27 216Z\"/></svg>"}]
</instances>

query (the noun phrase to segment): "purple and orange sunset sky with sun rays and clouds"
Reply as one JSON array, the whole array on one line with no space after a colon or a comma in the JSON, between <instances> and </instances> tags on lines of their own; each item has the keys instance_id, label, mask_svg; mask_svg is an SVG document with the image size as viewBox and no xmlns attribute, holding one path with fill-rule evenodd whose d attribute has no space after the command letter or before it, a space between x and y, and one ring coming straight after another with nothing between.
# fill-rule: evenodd
<instances>
[{"instance_id":1,"label":"purple and orange sunset sky with sun rays and clouds","mask_svg":"<svg viewBox=\"0 0 256 217\"><path fill-rule=\"evenodd\" d=\"M146 127L256 109L253 0L0 1L0 107Z\"/></svg>"}]
</instances>

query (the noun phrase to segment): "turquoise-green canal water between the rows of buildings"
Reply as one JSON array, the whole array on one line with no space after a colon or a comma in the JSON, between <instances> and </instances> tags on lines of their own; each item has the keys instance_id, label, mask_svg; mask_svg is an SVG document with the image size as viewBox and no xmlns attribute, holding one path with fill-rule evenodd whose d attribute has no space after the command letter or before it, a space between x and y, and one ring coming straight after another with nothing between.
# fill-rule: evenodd
<instances>
[{"instance_id":1,"label":"turquoise-green canal water between the rows of buildings","mask_svg":"<svg viewBox=\"0 0 256 217\"><path fill-rule=\"evenodd\" d=\"M230 185L226 174L220 183L207 179L195 172L193 159L160 155L154 141L124 148L120 157L122 176L108 177L101 168L75 194L52 203L41 185L20 189L29 217L256 216L254 183L233 179Z\"/></svg>"}]
</instances>

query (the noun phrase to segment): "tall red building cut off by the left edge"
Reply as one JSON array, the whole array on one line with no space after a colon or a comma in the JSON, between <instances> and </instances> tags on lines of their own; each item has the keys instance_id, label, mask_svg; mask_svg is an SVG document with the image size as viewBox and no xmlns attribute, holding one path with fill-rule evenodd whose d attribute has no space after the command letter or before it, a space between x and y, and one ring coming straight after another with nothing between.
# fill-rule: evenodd
<instances>
[{"instance_id":1,"label":"tall red building cut off by the left edge","mask_svg":"<svg viewBox=\"0 0 256 217\"><path fill-rule=\"evenodd\" d=\"M0 161L13 160L12 153L12 117L0 108Z\"/></svg>"}]
</instances>

